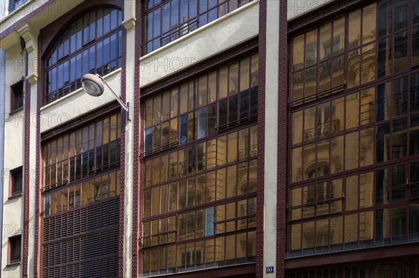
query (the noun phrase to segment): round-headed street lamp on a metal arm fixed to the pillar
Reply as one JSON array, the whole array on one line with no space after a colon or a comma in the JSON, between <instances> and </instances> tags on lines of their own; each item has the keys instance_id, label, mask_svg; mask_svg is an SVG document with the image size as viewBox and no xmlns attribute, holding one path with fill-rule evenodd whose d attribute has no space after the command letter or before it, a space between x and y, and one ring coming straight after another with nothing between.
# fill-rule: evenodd
<instances>
[{"instance_id":1,"label":"round-headed street lamp on a metal arm fixed to the pillar","mask_svg":"<svg viewBox=\"0 0 419 278\"><path fill-rule=\"evenodd\" d=\"M111 93L115 96L117 101L119 102L119 105L122 106L122 108L126 111L126 118L128 121L131 121L131 118L129 117L129 102L122 102L122 100L119 98L119 96L110 88L109 84L101 77L101 75L92 75L91 73L87 73L82 78L82 86L84 88L84 91L88 93L91 96L98 97L103 94L105 91L105 87L103 86L105 84L110 89Z\"/></svg>"}]
</instances>

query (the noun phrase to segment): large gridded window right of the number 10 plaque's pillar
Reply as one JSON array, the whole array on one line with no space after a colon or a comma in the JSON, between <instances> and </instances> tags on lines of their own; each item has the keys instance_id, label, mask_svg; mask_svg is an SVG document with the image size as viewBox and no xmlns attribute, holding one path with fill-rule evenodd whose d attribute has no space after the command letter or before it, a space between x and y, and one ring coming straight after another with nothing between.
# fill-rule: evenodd
<instances>
[{"instance_id":1,"label":"large gridded window right of the number 10 plaque's pillar","mask_svg":"<svg viewBox=\"0 0 419 278\"><path fill-rule=\"evenodd\" d=\"M417 8L380 0L291 38L288 256L418 241Z\"/></svg>"}]
</instances>

